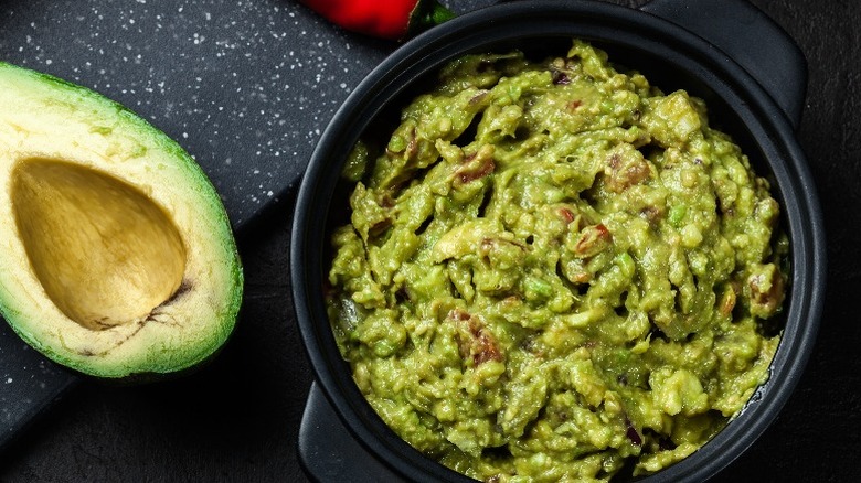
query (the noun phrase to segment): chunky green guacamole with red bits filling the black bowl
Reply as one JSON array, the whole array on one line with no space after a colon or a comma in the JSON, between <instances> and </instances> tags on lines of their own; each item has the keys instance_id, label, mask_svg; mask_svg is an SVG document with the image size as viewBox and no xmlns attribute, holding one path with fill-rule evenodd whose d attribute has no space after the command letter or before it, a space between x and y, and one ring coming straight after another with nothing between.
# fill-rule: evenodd
<instances>
[{"instance_id":1,"label":"chunky green guacamole with red bits filling the black bowl","mask_svg":"<svg viewBox=\"0 0 861 483\"><path fill-rule=\"evenodd\" d=\"M768 378L788 240L702 100L574 41L459 58L390 132L344 169L327 301L419 451L491 482L649 474Z\"/></svg>"}]
</instances>

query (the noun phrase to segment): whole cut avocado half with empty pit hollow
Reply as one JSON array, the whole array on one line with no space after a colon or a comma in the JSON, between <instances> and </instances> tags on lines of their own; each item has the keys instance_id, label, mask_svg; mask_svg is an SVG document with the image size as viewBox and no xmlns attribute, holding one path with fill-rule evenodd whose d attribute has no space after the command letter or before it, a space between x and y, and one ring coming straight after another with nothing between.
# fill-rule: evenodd
<instances>
[{"instance_id":1,"label":"whole cut avocado half with empty pit hollow","mask_svg":"<svg viewBox=\"0 0 861 483\"><path fill-rule=\"evenodd\" d=\"M99 378L184 371L233 331L243 273L215 189L119 104L0 63L0 313Z\"/></svg>"}]
</instances>

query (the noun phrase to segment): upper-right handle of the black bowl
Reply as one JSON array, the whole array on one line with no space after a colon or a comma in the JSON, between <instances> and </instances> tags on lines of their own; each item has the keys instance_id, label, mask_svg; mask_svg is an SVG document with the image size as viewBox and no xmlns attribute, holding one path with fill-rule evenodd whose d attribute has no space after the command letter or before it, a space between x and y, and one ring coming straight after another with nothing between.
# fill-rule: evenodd
<instances>
[{"instance_id":1,"label":"upper-right handle of the black bowl","mask_svg":"<svg viewBox=\"0 0 861 483\"><path fill-rule=\"evenodd\" d=\"M747 0L651 0L640 10L701 36L747 71L795 129L807 93L807 61L789 34Z\"/></svg>"}]
</instances>

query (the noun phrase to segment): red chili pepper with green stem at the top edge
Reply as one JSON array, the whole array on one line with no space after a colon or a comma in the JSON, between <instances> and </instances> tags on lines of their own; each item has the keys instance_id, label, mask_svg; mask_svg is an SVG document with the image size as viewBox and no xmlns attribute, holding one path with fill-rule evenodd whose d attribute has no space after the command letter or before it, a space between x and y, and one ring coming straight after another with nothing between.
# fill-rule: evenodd
<instances>
[{"instance_id":1,"label":"red chili pepper with green stem at the top edge","mask_svg":"<svg viewBox=\"0 0 861 483\"><path fill-rule=\"evenodd\" d=\"M436 0L300 0L346 30L389 40L404 40L455 14Z\"/></svg>"}]
</instances>

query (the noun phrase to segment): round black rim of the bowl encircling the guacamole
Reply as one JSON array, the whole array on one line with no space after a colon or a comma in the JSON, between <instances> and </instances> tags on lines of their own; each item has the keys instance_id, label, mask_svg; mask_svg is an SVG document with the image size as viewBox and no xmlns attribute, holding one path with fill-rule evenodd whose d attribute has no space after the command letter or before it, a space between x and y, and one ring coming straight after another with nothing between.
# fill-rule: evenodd
<instances>
[{"instance_id":1,"label":"round black rim of the bowl encircling the guacamole","mask_svg":"<svg viewBox=\"0 0 861 483\"><path fill-rule=\"evenodd\" d=\"M603 39L608 32L615 36ZM413 480L471 481L422 455L385 427L352 384L349 372L343 374L334 367L342 359L320 296L323 280L320 251L326 243L322 236L329 198L338 178L333 173L340 173L346 153L370 119L404 93L415 78L434 72L465 51L563 35L621 46L639 42L639 49L659 52L661 58L677 56L668 61L679 63L713 88L743 120L773 171L777 181L773 187L783 196L782 208L791 238L789 309L772 362L772 378L726 428L694 454L647 480L700 481L729 465L774 421L812 350L825 294L822 216L795 131L756 80L692 32L640 10L588 0L509 2L480 9L403 44L357 86L320 137L296 198L290 243L294 309L316 378L357 440L393 470Z\"/></svg>"}]
</instances>

